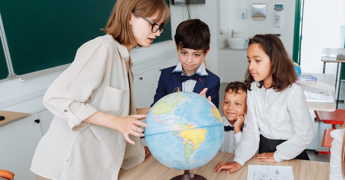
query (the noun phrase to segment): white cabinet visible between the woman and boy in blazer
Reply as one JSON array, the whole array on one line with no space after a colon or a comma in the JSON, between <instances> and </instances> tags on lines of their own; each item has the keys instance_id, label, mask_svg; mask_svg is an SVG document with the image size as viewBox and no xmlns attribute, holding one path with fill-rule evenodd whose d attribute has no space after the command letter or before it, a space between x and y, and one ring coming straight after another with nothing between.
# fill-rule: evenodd
<instances>
[{"instance_id":1,"label":"white cabinet visible between the woman and boy in blazer","mask_svg":"<svg viewBox=\"0 0 345 180\"><path fill-rule=\"evenodd\" d=\"M175 66L177 58L162 61L157 58L134 66L134 97L136 108L147 108L156 94L160 72L164 68ZM140 72L139 72L140 71Z\"/></svg>"}]
</instances>

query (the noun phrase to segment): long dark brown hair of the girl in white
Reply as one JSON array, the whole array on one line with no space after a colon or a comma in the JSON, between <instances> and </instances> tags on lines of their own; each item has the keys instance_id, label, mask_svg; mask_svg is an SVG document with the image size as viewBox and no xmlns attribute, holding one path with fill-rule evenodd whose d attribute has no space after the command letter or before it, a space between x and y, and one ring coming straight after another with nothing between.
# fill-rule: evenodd
<instances>
[{"instance_id":1,"label":"long dark brown hair of the girl in white","mask_svg":"<svg viewBox=\"0 0 345 180\"><path fill-rule=\"evenodd\" d=\"M272 86L275 91L283 91L285 88L292 86L292 83L297 80L297 73L294 68L294 64L289 54L287 53L283 42L274 34L256 34L253 38L249 39L248 46L250 44L259 44L259 47L267 54L271 60L271 74L272 74ZM245 81L249 91L250 84L254 82L252 74L250 74L249 66L245 74ZM259 82L259 88L264 86L264 82Z\"/></svg>"}]
</instances>

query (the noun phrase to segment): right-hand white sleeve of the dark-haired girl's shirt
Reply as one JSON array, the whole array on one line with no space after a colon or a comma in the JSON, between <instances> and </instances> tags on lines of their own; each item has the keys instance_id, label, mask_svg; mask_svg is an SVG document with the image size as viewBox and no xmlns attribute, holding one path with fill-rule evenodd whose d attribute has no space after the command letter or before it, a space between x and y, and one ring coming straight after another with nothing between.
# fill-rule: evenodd
<instances>
[{"instance_id":1,"label":"right-hand white sleeve of the dark-haired girl's shirt","mask_svg":"<svg viewBox=\"0 0 345 180\"><path fill-rule=\"evenodd\" d=\"M295 158L314 139L314 124L303 90L295 88L287 102L287 109L296 133L293 138L277 146L277 151L273 154L277 162Z\"/></svg>"}]
</instances>

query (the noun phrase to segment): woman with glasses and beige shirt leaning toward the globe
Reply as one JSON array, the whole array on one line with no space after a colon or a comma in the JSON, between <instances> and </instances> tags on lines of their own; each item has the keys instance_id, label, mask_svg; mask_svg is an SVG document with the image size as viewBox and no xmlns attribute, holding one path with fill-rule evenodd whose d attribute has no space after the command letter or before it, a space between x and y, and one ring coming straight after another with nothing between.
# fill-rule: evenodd
<instances>
[{"instance_id":1,"label":"woman with glasses and beige shirt leaning toward the globe","mask_svg":"<svg viewBox=\"0 0 345 180\"><path fill-rule=\"evenodd\" d=\"M37 179L116 180L144 160L138 119L149 108L135 108L129 52L149 47L169 16L164 0L116 1L107 34L83 44L45 94L55 116L33 156Z\"/></svg>"}]
</instances>

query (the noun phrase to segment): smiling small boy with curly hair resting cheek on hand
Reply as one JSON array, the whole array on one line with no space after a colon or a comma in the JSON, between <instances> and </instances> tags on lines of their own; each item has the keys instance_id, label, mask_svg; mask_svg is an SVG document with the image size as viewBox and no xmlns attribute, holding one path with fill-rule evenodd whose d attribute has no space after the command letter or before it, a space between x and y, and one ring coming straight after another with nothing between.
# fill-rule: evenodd
<instances>
[{"instance_id":1,"label":"smiling small boy with curly hair resting cheek on hand","mask_svg":"<svg viewBox=\"0 0 345 180\"><path fill-rule=\"evenodd\" d=\"M225 88L223 106L224 138L220 152L234 153L242 140L247 111L247 88L243 82L230 82Z\"/></svg>"}]
</instances>

